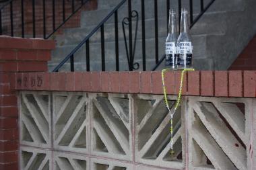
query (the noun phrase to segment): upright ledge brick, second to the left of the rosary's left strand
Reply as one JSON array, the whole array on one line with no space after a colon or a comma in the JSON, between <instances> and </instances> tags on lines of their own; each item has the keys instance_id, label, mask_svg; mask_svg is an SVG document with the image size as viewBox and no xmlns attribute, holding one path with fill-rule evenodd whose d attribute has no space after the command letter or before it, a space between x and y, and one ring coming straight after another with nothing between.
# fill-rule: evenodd
<instances>
[{"instance_id":1,"label":"upright ledge brick, second to the left of the rosary's left strand","mask_svg":"<svg viewBox=\"0 0 256 170\"><path fill-rule=\"evenodd\" d=\"M151 93L151 72L141 72L140 73L140 93Z\"/></svg>"}]
</instances>

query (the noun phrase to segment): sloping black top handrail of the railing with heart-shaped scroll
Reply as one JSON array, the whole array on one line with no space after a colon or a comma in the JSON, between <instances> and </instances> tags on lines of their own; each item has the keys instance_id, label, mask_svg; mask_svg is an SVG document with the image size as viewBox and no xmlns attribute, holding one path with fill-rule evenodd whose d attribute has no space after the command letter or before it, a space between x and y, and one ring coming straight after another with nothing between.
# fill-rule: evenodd
<instances>
[{"instance_id":1,"label":"sloping black top handrail of the railing with heart-shaped scroll","mask_svg":"<svg viewBox=\"0 0 256 170\"><path fill-rule=\"evenodd\" d=\"M86 38L84 38L84 40L82 40L82 42L80 42L60 63L59 65L57 65L57 67L55 67L55 69L53 69L53 72L58 72L59 69L65 64L65 62L67 62L67 60L73 60L73 55L75 54L75 52L77 52L77 50L79 50L79 48L81 48L86 42L88 42L88 40L98 31L98 29L102 28L103 26L103 32L104 32L104 23L114 14L117 12L117 10L126 2L127 0L123 0L121 1L121 3L119 3L119 5L117 5L112 11L110 11L110 13L108 13L108 15L106 15L106 17L104 17L104 19L102 19L102 21L100 22L100 24L98 24L98 26L96 26L96 28L94 28L94 30L92 30L92 32L90 32L90 34L88 34L88 36L86 36ZM71 63L71 67L73 67L73 63ZM71 69L71 71L73 71Z\"/></svg>"}]
</instances>

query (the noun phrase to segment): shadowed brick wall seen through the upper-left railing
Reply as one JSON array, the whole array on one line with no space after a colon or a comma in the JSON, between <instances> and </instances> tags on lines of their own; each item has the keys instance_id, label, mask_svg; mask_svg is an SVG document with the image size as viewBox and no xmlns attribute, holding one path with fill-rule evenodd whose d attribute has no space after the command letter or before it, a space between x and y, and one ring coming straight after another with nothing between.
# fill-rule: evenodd
<instances>
[{"instance_id":1,"label":"shadowed brick wall seen through the upper-left railing","mask_svg":"<svg viewBox=\"0 0 256 170\"><path fill-rule=\"evenodd\" d=\"M63 6L61 0L55 1L55 28L59 26L63 21ZM46 0L46 34L53 32L53 1ZM79 7L81 1L75 0L75 9ZM43 35L43 11L42 11L42 1L35 1L35 16L36 16L36 37L41 37ZM97 1L91 0L89 3L84 5L82 10L93 10L97 7ZM2 12L2 22L3 22L3 34L10 35L11 22L10 22L10 7L7 5ZM71 1L65 0L65 17L67 18L71 14ZM65 24L63 28L75 28L80 25L80 15L81 10L79 10L69 21ZM14 35L21 36L22 34L22 14L20 0L13 1L13 28ZM32 1L24 1L24 22L25 22L25 34L27 36L32 35ZM60 31L61 32L61 31Z\"/></svg>"}]
</instances>

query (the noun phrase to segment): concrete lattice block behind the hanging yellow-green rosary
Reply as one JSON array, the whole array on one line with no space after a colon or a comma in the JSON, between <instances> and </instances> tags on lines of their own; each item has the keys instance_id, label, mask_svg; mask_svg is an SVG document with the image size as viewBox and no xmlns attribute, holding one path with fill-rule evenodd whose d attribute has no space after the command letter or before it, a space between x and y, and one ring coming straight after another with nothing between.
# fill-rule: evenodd
<instances>
[{"instance_id":1,"label":"concrete lattice block behind the hanging yellow-green rosary","mask_svg":"<svg viewBox=\"0 0 256 170\"><path fill-rule=\"evenodd\" d=\"M171 110L176 97L169 96ZM170 114L162 95L138 95L133 98L135 121L135 161L146 165L183 169L185 129L183 107L174 114L174 155L170 155Z\"/></svg>"}]
</instances>

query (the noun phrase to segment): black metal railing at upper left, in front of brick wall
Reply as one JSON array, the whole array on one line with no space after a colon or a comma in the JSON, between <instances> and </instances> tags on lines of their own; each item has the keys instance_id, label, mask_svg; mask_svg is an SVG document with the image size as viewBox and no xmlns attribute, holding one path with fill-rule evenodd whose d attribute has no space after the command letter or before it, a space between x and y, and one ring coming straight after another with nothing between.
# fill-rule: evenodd
<instances>
[{"instance_id":1,"label":"black metal railing at upper left, in front of brick wall","mask_svg":"<svg viewBox=\"0 0 256 170\"><path fill-rule=\"evenodd\" d=\"M9 36L21 36L22 38L44 38L48 39L60 28L62 28L77 11L79 11L90 0L9 0L3 3L0 7L0 35ZM61 4L57 4L61 2ZM25 4L26 3L26 4ZM27 3L30 3L29 5ZM51 3L47 5L46 3ZM31 5L31 8L30 8ZM62 5L61 11L57 11L57 5ZM51 6L51 9L48 9ZM13 11L15 9L15 11ZM29 17L25 15L28 13L28 9L32 9L32 15ZM49 14L51 11L51 14ZM13 15L13 13L20 13L20 15ZM61 13L61 22L57 22L57 12ZM5 16L3 16L3 14ZM9 16L7 16L9 15ZM38 16L36 16L38 15ZM8 17L3 21L3 17ZM29 17L29 18L28 18ZM20 21L20 23L13 23L13 21ZM30 21L31 20L31 21ZM59 19L58 19L59 20ZM15 28L14 28L15 24ZM32 26L32 30L29 29ZM42 29L36 30L39 25L42 25ZM52 25L52 30L49 30L49 26ZM26 29L28 28L28 29Z\"/></svg>"}]
</instances>

